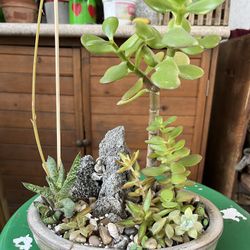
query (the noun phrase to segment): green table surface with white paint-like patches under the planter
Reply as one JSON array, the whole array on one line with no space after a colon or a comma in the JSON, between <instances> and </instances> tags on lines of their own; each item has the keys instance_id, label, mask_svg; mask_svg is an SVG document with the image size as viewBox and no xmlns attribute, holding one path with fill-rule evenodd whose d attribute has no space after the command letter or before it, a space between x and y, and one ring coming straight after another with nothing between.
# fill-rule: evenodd
<instances>
[{"instance_id":1,"label":"green table surface with white paint-like patches under the planter","mask_svg":"<svg viewBox=\"0 0 250 250\"><path fill-rule=\"evenodd\" d=\"M237 210L238 217L233 219L224 218L224 231L219 240L217 250L249 250L250 249L250 216L247 211L238 206L235 202L201 184L189 188L197 194L204 196L212 201L219 210L234 209ZM39 249L33 239L32 233L27 224L27 210L35 197L28 200L11 217L0 235L0 250L35 250ZM236 210L235 210L236 209ZM31 244L23 246L22 238L29 239ZM15 240L17 239L17 240Z\"/></svg>"}]
</instances>

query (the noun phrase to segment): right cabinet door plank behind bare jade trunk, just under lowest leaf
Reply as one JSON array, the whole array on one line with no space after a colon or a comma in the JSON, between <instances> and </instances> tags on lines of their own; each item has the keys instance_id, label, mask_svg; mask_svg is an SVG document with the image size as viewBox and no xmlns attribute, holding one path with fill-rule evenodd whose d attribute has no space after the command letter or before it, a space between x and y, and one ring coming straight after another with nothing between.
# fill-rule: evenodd
<instances>
[{"instance_id":1,"label":"right cabinet door plank behind bare jade trunk, just under lowest leaf","mask_svg":"<svg viewBox=\"0 0 250 250\"><path fill-rule=\"evenodd\" d=\"M147 115L149 98L141 97L127 105L117 106L119 97L92 97L93 114ZM162 97L160 111L162 115L195 116L197 99L193 97Z\"/></svg>"}]
</instances>

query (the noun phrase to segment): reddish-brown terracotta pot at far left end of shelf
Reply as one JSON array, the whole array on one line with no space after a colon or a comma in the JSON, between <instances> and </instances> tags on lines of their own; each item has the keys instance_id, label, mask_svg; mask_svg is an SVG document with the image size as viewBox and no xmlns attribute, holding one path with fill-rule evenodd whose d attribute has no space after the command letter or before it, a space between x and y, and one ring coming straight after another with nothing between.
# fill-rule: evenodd
<instances>
[{"instance_id":1,"label":"reddish-brown terracotta pot at far left end of shelf","mask_svg":"<svg viewBox=\"0 0 250 250\"><path fill-rule=\"evenodd\" d=\"M34 23L37 18L37 5L34 0L2 0L5 21L9 23Z\"/></svg>"}]
</instances>

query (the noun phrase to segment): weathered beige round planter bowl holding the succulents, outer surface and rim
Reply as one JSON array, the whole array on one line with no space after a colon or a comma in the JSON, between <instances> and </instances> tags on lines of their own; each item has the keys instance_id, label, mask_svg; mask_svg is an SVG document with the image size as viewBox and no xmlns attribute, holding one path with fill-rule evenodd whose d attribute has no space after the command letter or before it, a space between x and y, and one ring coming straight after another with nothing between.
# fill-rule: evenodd
<instances>
[{"instance_id":1,"label":"weathered beige round planter bowl holding the succulents, outer surface and rim","mask_svg":"<svg viewBox=\"0 0 250 250\"><path fill-rule=\"evenodd\" d=\"M220 211L209 200L201 197L200 200L205 204L206 211L210 218L210 224L207 230L197 240L192 240L178 246L168 247L168 250L214 250L217 242L223 231L223 219ZM38 198L40 199L40 198ZM28 210L28 224L33 233L35 241L41 250L97 250L100 248L89 247L73 243L57 236L54 232L50 231L41 221L40 215L32 204ZM108 248L105 248L108 249ZM112 249L112 248L110 248Z\"/></svg>"}]
</instances>

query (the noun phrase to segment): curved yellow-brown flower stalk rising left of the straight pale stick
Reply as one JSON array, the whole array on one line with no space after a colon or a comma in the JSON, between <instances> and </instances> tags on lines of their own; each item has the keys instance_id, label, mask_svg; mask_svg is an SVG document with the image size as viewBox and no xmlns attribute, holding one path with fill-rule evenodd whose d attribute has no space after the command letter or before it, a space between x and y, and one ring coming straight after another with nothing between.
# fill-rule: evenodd
<instances>
[{"instance_id":1,"label":"curved yellow-brown flower stalk rising left of the straight pale stick","mask_svg":"<svg viewBox=\"0 0 250 250\"><path fill-rule=\"evenodd\" d=\"M36 39L35 39L35 49L34 49L34 59L33 59L33 73L32 73L32 119L31 123L33 126L34 136L38 148L38 152L40 158L42 160L42 167L45 173L48 175L48 168L44 158L40 137L37 129L37 122L36 122L36 69L37 69L37 54L38 54L38 44L39 44L39 34L40 34L40 24L42 19L42 9L43 9L43 0L40 1L39 5L39 12L37 18L37 30L36 30Z\"/></svg>"}]
</instances>

